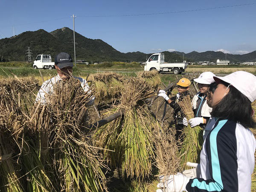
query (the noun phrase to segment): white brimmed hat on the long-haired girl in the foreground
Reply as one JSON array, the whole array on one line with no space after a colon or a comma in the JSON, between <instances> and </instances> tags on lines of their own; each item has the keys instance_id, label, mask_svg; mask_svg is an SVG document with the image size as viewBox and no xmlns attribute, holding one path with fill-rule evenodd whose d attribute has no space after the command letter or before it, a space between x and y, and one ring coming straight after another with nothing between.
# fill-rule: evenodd
<instances>
[{"instance_id":1,"label":"white brimmed hat on the long-haired girl in the foreground","mask_svg":"<svg viewBox=\"0 0 256 192\"><path fill-rule=\"evenodd\" d=\"M236 71L224 77L213 77L216 83L221 80L231 84L251 102L256 99L256 76L245 71Z\"/></svg>"}]
</instances>

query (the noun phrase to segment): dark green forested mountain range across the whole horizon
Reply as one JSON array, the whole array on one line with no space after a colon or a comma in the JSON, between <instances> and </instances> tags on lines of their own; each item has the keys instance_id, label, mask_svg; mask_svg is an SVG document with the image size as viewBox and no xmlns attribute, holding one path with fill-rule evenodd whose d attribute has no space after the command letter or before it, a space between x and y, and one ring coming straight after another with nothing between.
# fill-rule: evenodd
<instances>
[{"instance_id":1,"label":"dark green forested mountain range across the whole horizon","mask_svg":"<svg viewBox=\"0 0 256 192\"><path fill-rule=\"evenodd\" d=\"M111 45L101 39L86 38L75 32L76 38L76 60L85 60L88 62L99 61L146 61L150 54L143 52L122 53L114 49ZM68 27L56 29L47 32L44 29L37 31L23 32L11 38L0 39L0 58L3 61L26 61L26 50L28 47L32 50L32 60L39 54L51 54L52 58L59 52L68 52L74 58L73 48L73 30ZM169 52L165 51L166 62L186 61L215 61L225 59L223 52ZM244 55L227 54L227 59L234 62L248 61L256 58L256 51Z\"/></svg>"}]
</instances>

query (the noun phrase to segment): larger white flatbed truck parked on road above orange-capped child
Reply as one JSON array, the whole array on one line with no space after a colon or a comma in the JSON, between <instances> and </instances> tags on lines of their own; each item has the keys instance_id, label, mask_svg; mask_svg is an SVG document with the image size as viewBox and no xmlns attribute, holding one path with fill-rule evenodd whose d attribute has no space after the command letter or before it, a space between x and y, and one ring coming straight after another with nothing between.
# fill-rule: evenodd
<instances>
[{"instance_id":1,"label":"larger white flatbed truck parked on road above orange-capped child","mask_svg":"<svg viewBox=\"0 0 256 192\"><path fill-rule=\"evenodd\" d=\"M159 73L180 74L185 71L187 63L165 63L164 53L154 53L145 62L144 71L157 70Z\"/></svg>"}]
</instances>

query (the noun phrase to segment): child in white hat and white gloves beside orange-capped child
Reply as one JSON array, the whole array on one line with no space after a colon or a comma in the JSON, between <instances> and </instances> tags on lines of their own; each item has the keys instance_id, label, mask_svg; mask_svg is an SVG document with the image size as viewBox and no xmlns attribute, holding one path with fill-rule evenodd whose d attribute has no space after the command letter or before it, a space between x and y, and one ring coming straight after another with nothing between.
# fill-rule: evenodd
<instances>
[{"instance_id":1,"label":"child in white hat and white gloves beside orange-capped child","mask_svg":"<svg viewBox=\"0 0 256 192\"><path fill-rule=\"evenodd\" d=\"M192 99L192 108L194 111L195 118L183 119L183 125L187 126L188 123L191 127L200 125L202 128L205 128L209 118L212 108L207 105L207 92L209 85L214 82L213 77L215 75L212 72L204 72L197 79L194 79L198 83L199 92Z\"/></svg>"}]
</instances>

